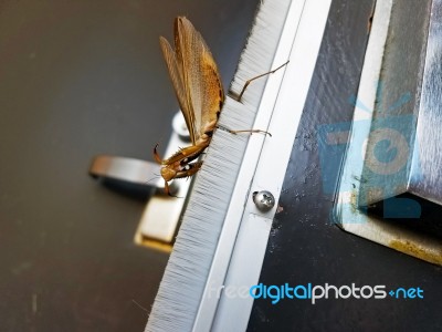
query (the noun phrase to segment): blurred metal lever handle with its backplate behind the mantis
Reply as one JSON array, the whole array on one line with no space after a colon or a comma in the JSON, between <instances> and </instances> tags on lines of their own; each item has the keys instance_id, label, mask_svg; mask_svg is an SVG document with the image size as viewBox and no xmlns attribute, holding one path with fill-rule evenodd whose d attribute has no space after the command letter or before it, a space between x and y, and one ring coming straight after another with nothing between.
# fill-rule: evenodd
<instances>
[{"instance_id":1,"label":"blurred metal lever handle with its backplate behind the mantis","mask_svg":"<svg viewBox=\"0 0 442 332\"><path fill-rule=\"evenodd\" d=\"M181 112L175 115L172 127L165 153L167 156L176 153L179 147L189 144L190 141ZM170 190L177 197L170 197L165 195L165 183L159 174L160 165L156 163L119 156L98 155L90 167L90 175L95 178L120 181L129 187L134 186L134 189L139 186L151 188L151 197L141 215L135 242L170 251L191 181L172 181Z\"/></svg>"}]
</instances>

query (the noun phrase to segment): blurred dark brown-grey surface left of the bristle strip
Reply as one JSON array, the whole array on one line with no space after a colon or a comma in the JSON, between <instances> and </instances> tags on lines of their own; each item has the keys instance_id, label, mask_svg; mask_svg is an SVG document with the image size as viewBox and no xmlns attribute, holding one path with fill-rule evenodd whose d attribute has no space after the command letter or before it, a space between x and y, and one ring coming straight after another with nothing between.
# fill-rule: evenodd
<instances>
[{"instance_id":1,"label":"blurred dark brown-grey surface left of the bristle strip","mask_svg":"<svg viewBox=\"0 0 442 332\"><path fill-rule=\"evenodd\" d=\"M136 247L145 199L87 175L152 160L178 106L158 37L188 15L229 86L256 0L0 3L0 331L141 331L168 256Z\"/></svg>"}]
</instances>

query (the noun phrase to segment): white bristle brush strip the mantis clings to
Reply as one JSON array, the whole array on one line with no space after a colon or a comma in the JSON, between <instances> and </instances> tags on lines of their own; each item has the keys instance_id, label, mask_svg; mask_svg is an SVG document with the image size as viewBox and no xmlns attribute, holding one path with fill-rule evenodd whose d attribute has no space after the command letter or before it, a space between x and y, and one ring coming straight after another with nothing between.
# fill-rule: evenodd
<instances>
[{"instance_id":1,"label":"white bristle brush strip the mantis clings to","mask_svg":"<svg viewBox=\"0 0 442 332\"><path fill-rule=\"evenodd\" d=\"M273 60L290 4L290 0L261 3L231 91L239 93L245 81L274 68ZM254 127L266 79L261 79L250 84L242 103L228 97L220 126L230 129ZM266 126L259 128L265 131ZM214 132L204 164L197 174L146 332L192 331L248 141L264 138L261 134Z\"/></svg>"}]
</instances>

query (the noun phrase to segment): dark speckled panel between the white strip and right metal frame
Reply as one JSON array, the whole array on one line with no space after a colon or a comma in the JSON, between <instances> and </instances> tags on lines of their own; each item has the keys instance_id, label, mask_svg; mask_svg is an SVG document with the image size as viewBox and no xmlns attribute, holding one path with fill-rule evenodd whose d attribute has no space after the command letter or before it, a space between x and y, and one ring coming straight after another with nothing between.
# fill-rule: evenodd
<instances>
[{"instance_id":1,"label":"dark speckled panel between the white strip and right metal frame","mask_svg":"<svg viewBox=\"0 0 442 332\"><path fill-rule=\"evenodd\" d=\"M335 0L293 147L260 282L420 287L424 299L255 300L249 331L438 331L442 270L339 230L334 184L345 148L319 162L322 125L348 123L357 94L375 1ZM349 126L347 127L347 129ZM345 139L343 139L345 142ZM325 167L327 166L327 167ZM332 188L332 189L330 189Z\"/></svg>"}]
</instances>

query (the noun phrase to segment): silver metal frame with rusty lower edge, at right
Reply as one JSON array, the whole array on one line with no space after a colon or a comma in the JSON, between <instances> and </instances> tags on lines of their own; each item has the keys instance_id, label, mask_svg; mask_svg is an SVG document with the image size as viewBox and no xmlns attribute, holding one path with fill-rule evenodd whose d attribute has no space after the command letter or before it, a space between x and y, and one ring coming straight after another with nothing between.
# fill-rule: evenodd
<instances>
[{"instance_id":1,"label":"silver metal frame with rusty lower edge, at right","mask_svg":"<svg viewBox=\"0 0 442 332\"><path fill-rule=\"evenodd\" d=\"M335 220L442 266L442 0L415 4L377 1Z\"/></svg>"}]
</instances>

